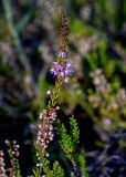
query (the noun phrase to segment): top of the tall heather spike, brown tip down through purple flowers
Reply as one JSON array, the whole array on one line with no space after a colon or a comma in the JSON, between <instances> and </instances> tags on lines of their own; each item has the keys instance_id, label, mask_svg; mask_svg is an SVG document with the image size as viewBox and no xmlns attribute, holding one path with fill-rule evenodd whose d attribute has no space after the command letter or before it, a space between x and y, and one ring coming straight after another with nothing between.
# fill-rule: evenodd
<instances>
[{"instance_id":1,"label":"top of the tall heather spike, brown tip down through purple flowers","mask_svg":"<svg viewBox=\"0 0 126 177\"><path fill-rule=\"evenodd\" d=\"M63 82L69 82L70 75L72 75L73 71L71 69L71 62L67 61L67 53L69 53L69 46L67 46L67 21L65 17L65 11L62 10L62 20L61 20L61 28L60 28L60 34L61 34L61 43L59 48L59 58L56 62L53 62L53 65L50 70L50 72L59 79L61 79ZM60 81L61 82L61 81Z\"/></svg>"}]
</instances>

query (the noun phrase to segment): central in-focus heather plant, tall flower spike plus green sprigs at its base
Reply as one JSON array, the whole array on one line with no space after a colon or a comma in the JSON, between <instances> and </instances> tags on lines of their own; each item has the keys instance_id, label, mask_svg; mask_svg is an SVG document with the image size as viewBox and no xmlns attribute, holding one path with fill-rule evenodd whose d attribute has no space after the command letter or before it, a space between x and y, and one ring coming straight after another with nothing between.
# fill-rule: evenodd
<instances>
[{"instance_id":1,"label":"central in-focus heather plant, tall flower spike plus green sprigs at its base","mask_svg":"<svg viewBox=\"0 0 126 177\"><path fill-rule=\"evenodd\" d=\"M38 139L36 139L36 157L38 157L38 170L34 170L35 176L65 176L65 171L62 169L57 162L53 163L52 169L48 159L48 144L53 140L54 129L57 131L60 137L60 145L64 152L64 155L72 163L73 171L71 176L87 176L85 155L84 153L76 153L76 145L78 143L80 131L74 117L70 121L71 135L66 133L65 126L57 119L56 111L60 108L56 106L57 98L62 87L69 83L69 76L72 75L71 62L67 59L67 23L64 11L62 12L61 21L61 43L59 46L59 58L50 72L55 76L55 86L52 91L48 91L50 100L48 106L40 114ZM55 123L55 124L54 124ZM54 127L55 125L55 127Z\"/></svg>"}]
</instances>

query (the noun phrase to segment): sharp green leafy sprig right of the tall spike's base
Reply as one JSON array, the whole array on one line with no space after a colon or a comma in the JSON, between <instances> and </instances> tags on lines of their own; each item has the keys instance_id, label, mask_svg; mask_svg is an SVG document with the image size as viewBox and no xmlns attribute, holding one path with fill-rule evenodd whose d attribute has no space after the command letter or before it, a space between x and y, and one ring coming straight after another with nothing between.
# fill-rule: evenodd
<instances>
[{"instance_id":1,"label":"sharp green leafy sprig right of the tall spike's base","mask_svg":"<svg viewBox=\"0 0 126 177\"><path fill-rule=\"evenodd\" d=\"M72 162L75 174L81 174L82 177L88 177L85 153L78 152L77 147L80 129L74 116L70 118L70 134L60 121L56 121L55 128L60 137L61 148L63 149L65 156Z\"/></svg>"}]
</instances>

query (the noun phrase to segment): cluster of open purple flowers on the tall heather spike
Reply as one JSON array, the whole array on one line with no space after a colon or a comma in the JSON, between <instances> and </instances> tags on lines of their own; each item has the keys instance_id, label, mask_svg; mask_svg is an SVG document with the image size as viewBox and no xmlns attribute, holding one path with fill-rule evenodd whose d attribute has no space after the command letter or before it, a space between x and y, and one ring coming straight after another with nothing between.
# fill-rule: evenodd
<instances>
[{"instance_id":1,"label":"cluster of open purple flowers on the tall heather spike","mask_svg":"<svg viewBox=\"0 0 126 177\"><path fill-rule=\"evenodd\" d=\"M71 69L71 62L65 61L63 64L60 64L59 62L53 62L53 66L51 67L51 73L54 74L54 76L62 76L67 77L69 75L72 75L73 70Z\"/></svg>"}]
</instances>

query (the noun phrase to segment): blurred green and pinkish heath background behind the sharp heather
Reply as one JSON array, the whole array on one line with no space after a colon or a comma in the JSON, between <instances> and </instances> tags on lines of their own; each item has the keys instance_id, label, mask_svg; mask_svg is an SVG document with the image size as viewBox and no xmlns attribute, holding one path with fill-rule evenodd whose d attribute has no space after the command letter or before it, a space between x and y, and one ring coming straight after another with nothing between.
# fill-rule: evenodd
<instances>
[{"instance_id":1,"label":"blurred green and pinkish heath background behind the sharp heather","mask_svg":"<svg viewBox=\"0 0 126 177\"><path fill-rule=\"evenodd\" d=\"M0 148L18 140L22 176L32 173L36 119L54 86L50 66L62 8L74 75L61 92L59 117L67 126L75 115L91 176L125 177L126 0L0 1ZM51 159L61 153L55 144L49 152Z\"/></svg>"}]
</instances>

